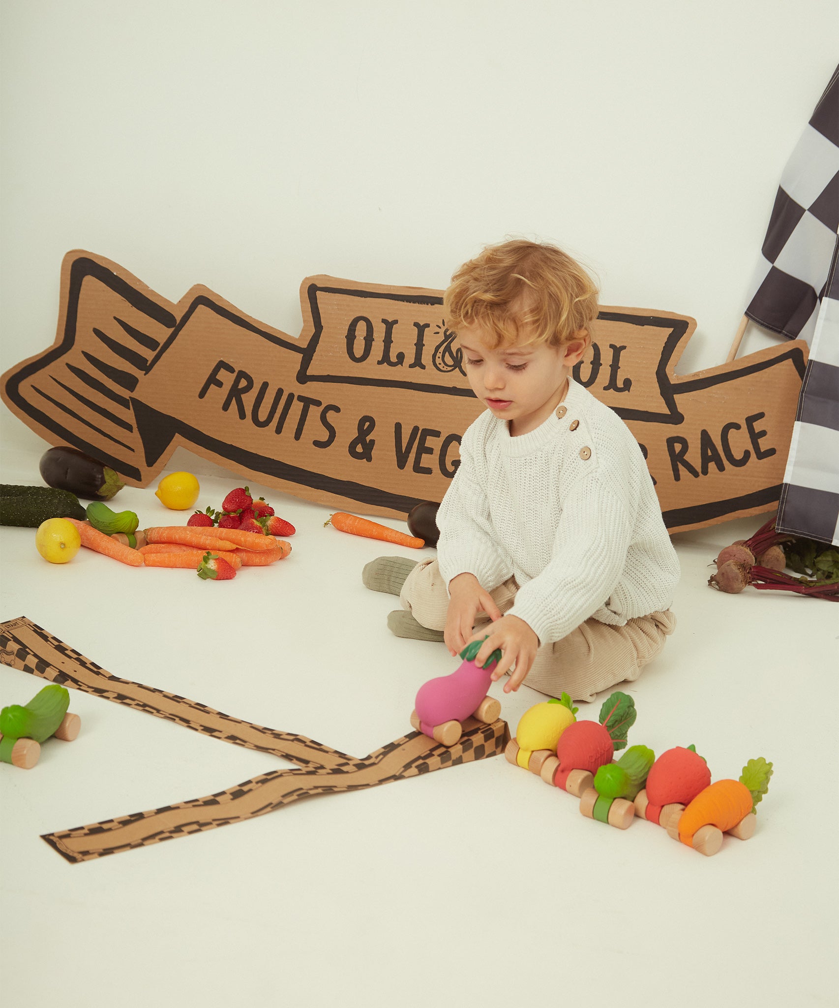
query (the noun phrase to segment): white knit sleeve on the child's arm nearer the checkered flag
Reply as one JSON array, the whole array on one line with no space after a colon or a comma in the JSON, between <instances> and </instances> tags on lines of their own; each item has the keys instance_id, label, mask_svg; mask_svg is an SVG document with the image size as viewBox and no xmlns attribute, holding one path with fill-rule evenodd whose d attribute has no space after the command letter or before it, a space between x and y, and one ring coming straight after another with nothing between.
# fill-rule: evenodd
<instances>
[{"instance_id":1,"label":"white knit sleeve on the child's arm nearer the checkered flag","mask_svg":"<svg viewBox=\"0 0 839 1008\"><path fill-rule=\"evenodd\" d=\"M510 614L524 620L540 644L561 640L611 595L632 530L626 505L597 474L579 481L564 501L550 561L519 590Z\"/></svg>"}]
</instances>

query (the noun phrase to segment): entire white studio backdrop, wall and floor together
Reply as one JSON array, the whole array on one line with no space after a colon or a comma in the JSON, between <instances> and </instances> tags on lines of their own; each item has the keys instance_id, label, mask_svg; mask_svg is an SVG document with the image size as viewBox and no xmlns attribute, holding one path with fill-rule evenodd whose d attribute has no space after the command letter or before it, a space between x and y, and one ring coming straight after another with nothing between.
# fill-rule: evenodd
<instances>
[{"instance_id":1,"label":"entire white studio backdrop, wall and floor together","mask_svg":"<svg viewBox=\"0 0 839 1008\"><path fill-rule=\"evenodd\" d=\"M605 303L694 316L682 370L720 363L836 62L835 0L0 12L4 369L51 343L73 248L172 300L204 283L296 336L308 274L442 287L509 234L580 255ZM773 340L749 331L743 352ZM5 407L0 434L4 482L34 482L43 443ZM170 465L202 474L200 507L232 486L195 457ZM25 614L116 675L370 752L451 659L387 631L395 600L360 579L379 544L251 487L297 527L279 569L231 591L189 572L141 585L90 550L42 562L30 529L4 527L0 619ZM171 520L150 490L118 501L143 525ZM40 834L285 766L73 690L80 738L0 774L5 1001L832 1004L839 822L813 768L835 759L814 730L835 692L835 614L707 588L712 557L758 523L675 536L679 630L630 689L633 744L695 743L715 776L775 762L747 845L706 860L650 824L618 835L492 759L71 867ZM0 706L36 685L4 668ZM511 728L543 699L494 689Z\"/></svg>"}]
</instances>

